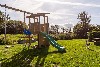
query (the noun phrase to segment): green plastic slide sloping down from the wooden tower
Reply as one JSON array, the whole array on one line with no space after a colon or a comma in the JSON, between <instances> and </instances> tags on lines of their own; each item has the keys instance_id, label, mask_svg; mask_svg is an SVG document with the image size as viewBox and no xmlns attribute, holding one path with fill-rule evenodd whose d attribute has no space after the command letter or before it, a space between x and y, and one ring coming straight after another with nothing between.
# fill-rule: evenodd
<instances>
[{"instance_id":1,"label":"green plastic slide sloping down from the wooden tower","mask_svg":"<svg viewBox=\"0 0 100 67\"><path fill-rule=\"evenodd\" d=\"M65 48L64 48L63 46L59 45L50 35L48 35L48 34L46 34L46 33L44 33L44 32L40 32L40 34L41 34L42 36L46 37L46 39L50 42L50 44L51 44L53 47L57 48L58 51L61 51L61 52L62 52L62 51L65 51Z\"/></svg>"}]
</instances>

